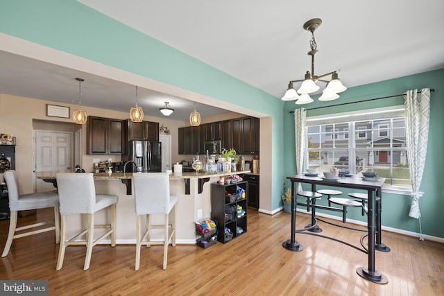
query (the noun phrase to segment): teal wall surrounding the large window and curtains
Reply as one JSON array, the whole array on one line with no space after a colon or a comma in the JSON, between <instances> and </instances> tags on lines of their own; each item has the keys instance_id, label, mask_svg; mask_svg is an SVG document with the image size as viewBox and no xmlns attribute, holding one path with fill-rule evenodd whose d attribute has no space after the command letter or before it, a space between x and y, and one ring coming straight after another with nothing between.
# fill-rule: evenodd
<instances>
[{"instance_id":1,"label":"teal wall surrounding the large window and curtains","mask_svg":"<svg viewBox=\"0 0 444 296\"><path fill-rule=\"evenodd\" d=\"M371 83L368 85L361 85L359 87L350 87L346 92L343 92L341 97L336 101L323 103L320 101L315 101L314 103L304 105L303 107L309 109L311 107L321 107L322 105L356 102L369 98L379 98L395 94L402 94L409 89L422 89L424 87L435 89L435 92L431 92L430 95L431 110L429 142L427 146L425 173L422 177L420 186L420 191L425 192L420 199L422 233L444 238L444 187L441 184L441 182L443 182L442 171L444 167L444 69ZM308 110L307 116L334 114L339 112L350 112L355 110L366 110L376 107L387 107L391 105L403 104L404 98L400 96L398 98L386 98L366 103L355 103L351 105L328 107L311 111ZM284 125L285 134L287 134L288 137L285 137L284 141L285 146L292 147L291 150L285 150L285 158L291 159L291 162L286 163L290 164L285 168L286 175L294 175L296 173L296 159L294 156L295 150L293 144L294 121L293 115L289 114L289 112L295 110L297 107L299 106L295 105L294 101L287 102L285 104L284 113L287 118L285 119ZM351 191L343 190L343 192L347 193ZM321 200L321 202L317 203L326 204L325 200ZM409 232L419 232L418 220L409 218L411 204L411 197L409 195L384 193L382 204L382 225L386 227L403 229ZM339 216L338 214L334 214L330 211L321 212ZM348 217L355 220L366 221L366 217L361 216L359 209L349 209Z\"/></svg>"}]
</instances>

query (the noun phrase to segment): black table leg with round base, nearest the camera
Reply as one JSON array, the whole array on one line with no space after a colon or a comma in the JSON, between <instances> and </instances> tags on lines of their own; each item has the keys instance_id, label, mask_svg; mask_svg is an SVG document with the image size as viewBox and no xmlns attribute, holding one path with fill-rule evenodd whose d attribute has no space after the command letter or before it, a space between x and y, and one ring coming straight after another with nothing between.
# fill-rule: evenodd
<instances>
[{"instance_id":1,"label":"black table leg with round base, nearest the camera","mask_svg":"<svg viewBox=\"0 0 444 296\"><path fill-rule=\"evenodd\" d=\"M381 272L375 270L375 231L376 231L376 197L373 197L373 191L368 190L368 268L359 267L356 272L364 279L376 284L387 284L388 278Z\"/></svg>"}]
</instances>

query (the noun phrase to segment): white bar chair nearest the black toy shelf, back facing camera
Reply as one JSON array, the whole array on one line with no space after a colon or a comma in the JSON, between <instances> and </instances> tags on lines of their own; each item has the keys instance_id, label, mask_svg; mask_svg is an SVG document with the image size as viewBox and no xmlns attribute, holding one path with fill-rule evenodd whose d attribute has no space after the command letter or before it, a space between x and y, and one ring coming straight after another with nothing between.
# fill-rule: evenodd
<instances>
[{"instance_id":1,"label":"white bar chair nearest the black toy shelf, back facing camera","mask_svg":"<svg viewBox=\"0 0 444 296\"><path fill-rule=\"evenodd\" d=\"M169 194L168 173L135 173L133 174L135 213L136 213L136 266L139 270L140 247L146 245L164 245L163 269L167 269L167 256L169 241L176 245L176 203L178 197ZM169 214L171 213L171 221ZM163 225L151 225L151 214L164 214ZM146 217L146 227L141 236L141 219ZM164 229L163 241L151 241L151 230Z\"/></svg>"}]
</instances>

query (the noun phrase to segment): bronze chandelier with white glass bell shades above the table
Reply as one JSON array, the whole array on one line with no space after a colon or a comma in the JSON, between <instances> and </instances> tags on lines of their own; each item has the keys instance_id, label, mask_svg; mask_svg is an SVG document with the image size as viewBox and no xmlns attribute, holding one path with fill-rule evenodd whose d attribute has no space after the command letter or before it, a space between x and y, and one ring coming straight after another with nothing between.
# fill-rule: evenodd
<instances>
[{"instance_id":1,"label":"bronze chandelier with white glass bell shades above the table","mask_svg":"<svg viewBox=\"0 0 444 296\"><path fill-rule=\"evenodd\" d=\"M323 90L322 96L319 98L319 101L332 101L339 98L339 93L345 91L347 87L343 86L341 81L338 78L338 73L336 71L332 71L330 73L326 73L323 75L314 75L314 55L318 52L318 46L316 44L316 40L314 39L314 31L321 26L321 19L310 19L305 22L303 28L304 30L311 32L311 40L310 40L310 49L307 54L311 55L311 73L307 71L305 73L304 79L300 80L291 80L289 82L289 87L287 92L285 92L282 97L282 101L293 101L297 100L296 104L302 105L313 102L313 99L310 98L309 94L316 92L319 87L316 85L316 82L321 81L327 84L327 87ZM323 80L321 78L325 78L327 76L331 76L330 80ZM293 83L302 82L298 91L293 87Z\"/></svg>"}]
</instances>

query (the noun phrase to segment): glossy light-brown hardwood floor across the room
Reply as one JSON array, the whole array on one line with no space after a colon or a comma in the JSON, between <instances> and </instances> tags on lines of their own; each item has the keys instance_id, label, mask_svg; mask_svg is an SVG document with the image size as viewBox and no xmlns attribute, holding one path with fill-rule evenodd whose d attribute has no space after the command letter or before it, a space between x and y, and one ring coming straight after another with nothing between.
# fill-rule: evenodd
<instances>
[{"instance_id":1,"label":"glossy light-brown hardwood floor across the room","mask_svg":"<svg viewBox=\"0 0 444 296\"><path fill-rule=\"evenodd\" d=\"M51 215L51 209L37 210L19 223ZM309 216L298 213L296 227L308 223ZM388 284L381 285L357 275L356 268L368 266L367 255L343 243L296 234L304 250L285 250L282 242L290 238L290 224L284 212L269 216L248 209L243 236L205 250L170 246L167 270L162 270L162 246L142 248L137 272L135 246L129 245L94 247L87 271L85 247L67 247L63 268L56 271L53 233L37 234L12 243L1 259L0 279L47 279L49 295L444 295L443 244L383 232L391 252L375 254L376 270L388 277ZM8 220L0 221L1 250L8 225ZM321 234L360 247L364 232L319 225Z\"/></svg>"}]
</instances>

